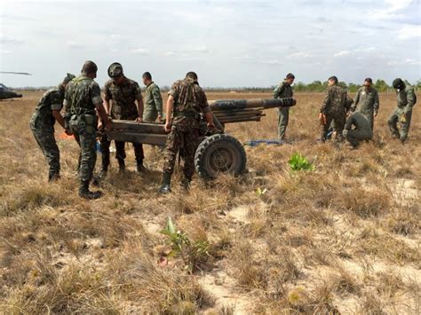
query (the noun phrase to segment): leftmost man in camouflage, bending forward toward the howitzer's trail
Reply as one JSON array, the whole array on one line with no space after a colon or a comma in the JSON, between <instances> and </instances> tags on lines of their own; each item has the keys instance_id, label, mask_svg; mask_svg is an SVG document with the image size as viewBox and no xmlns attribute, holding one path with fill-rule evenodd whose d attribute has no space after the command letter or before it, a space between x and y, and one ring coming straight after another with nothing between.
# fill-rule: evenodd
<instances>
[{"instance_id":1,"label":"leftmost man in camouflage, bending forward toward the howitzer's trail","mask_svg":"<svg viewBox=\"0 0 421 315\"><path fill-rule=\"evenodd\" d=\"M56 121L59 122L61 127L69 133L60 110L63 107L66 86L74 78L75 75L68 74L57 87L46 91L39 100L36 112L32 115L30 122L30 128L36 138L36 143L41 147L48 161L50 168L48 173L49 182L60 178L60 151L54 138L54 124Z\"/></svg>"}]
</instances>

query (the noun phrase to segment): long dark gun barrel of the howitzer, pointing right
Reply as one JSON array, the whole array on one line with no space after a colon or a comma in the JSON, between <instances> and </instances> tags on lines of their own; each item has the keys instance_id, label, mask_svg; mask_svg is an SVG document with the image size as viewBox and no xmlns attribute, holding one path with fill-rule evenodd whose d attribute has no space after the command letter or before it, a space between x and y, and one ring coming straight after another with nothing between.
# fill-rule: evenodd
<instances>
[{"instance_id":1,"label":"long dark gun barrel of the howitzer, pointing right","mask_svg":"<svg viewBox=\"0 0 421 315\"><path fill-rule=\"evenodd\" d=\"M217 99L208 102L212 111L241 110L246 108L274 108L296 105L294 98L252 98L252 99Z\"/></svg>"}]
</instances>

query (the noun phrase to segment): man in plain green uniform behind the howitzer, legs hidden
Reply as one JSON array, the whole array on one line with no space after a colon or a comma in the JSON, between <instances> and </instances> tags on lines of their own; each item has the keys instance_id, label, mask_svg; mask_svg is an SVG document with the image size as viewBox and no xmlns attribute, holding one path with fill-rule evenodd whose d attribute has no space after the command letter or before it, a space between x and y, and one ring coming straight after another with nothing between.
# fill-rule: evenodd
<instances>
[{"instance_id":1,"label":"man in plain green uniform behind the howitzer, legs hidden","mask_svg":"<svg viewBox=\"0 0 421 315\"><path fill-rule=\"evenodd\" d=\"M152 75L145 72L142 75L143 83L147 86L145 90L145 109L143 111L144 122L163 121L163 97L158 85L152 81Z\"/></svg>"}]
</instances>

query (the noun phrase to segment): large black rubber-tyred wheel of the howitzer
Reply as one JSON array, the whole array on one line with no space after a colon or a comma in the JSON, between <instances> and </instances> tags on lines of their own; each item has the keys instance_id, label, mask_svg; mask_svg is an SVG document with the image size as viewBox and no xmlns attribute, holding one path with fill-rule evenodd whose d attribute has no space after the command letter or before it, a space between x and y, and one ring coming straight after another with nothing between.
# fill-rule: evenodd
<instances>
[{"instance_id":1,"label":"large black rubber-tyred wheel of the howitzer","mask_svg":"<svg viewBox=\"0 0 421 315\"><path fill-rule=\"evenodd\" d=\"M218 173L240 175L246 167L242 144L234 137L216 134L204 138L197 147L195 169L199 176L213 179Z\"/></svg>"}]
</instances>

